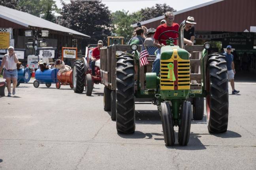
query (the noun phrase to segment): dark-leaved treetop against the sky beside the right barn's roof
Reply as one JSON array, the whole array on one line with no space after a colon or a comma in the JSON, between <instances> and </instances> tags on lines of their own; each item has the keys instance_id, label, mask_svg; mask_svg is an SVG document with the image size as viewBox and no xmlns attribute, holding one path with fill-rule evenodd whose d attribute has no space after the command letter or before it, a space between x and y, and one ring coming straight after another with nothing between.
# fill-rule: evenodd
<instances>
[{"instance_id":1,"label":"dark-leaved treetop against the sky beside the right barn's roof","mask_svg":"<svg viewBox=\"0 0 256 170\"><path fill-rule=\"evenodd\" d=\"M139 12L141 13L141 21L160 17L168 11L175 12L176 10L168 6L166 3L156 4L155 6L146 7L144 9L139 10Z\"/></svg>"}]
</instances>

